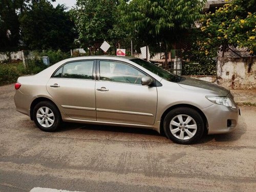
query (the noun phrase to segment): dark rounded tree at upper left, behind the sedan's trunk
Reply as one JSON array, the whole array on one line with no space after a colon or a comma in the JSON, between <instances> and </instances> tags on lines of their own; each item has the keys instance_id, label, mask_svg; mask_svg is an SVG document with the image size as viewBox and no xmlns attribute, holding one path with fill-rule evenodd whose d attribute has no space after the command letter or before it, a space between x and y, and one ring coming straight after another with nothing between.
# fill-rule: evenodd
<instances>
[{"instance_id":1,"label":"dark rounded tree at upper left, behind the sedan's trunk","mask_svg":"<svg viewBox=\"0 0 256 192\"><path fill-rule=\"evenodd\" d=\"M32 1L20 15L22 39L30 49L70 50L74 23L64 5L56 8L49 1Z\"/></svg>"}]
</instances>

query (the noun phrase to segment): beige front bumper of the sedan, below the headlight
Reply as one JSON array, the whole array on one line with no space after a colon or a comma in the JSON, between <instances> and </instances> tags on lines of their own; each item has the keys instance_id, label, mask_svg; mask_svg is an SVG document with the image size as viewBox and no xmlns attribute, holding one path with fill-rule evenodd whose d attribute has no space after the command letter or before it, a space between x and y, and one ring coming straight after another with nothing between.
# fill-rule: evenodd
<instances>
[{"instance_id":1,"label":"beige front bumper of the sedan, below the headlight","mask_svg":"<svg viewBox=\"0 0 256 192\"><path fill-rule=\"evenodd\" d=\"M208 121L208 134L229 133L235 129L238 123L240 110L220 104L212 104L204 108L202 112Z\"/></svg>"}]
</instances>

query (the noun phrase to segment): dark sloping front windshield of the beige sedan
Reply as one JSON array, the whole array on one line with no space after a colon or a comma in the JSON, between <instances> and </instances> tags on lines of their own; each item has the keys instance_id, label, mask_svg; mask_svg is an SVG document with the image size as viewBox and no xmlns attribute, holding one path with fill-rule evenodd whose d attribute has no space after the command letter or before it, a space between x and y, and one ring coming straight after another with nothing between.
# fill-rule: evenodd
<instances>
[{"instance_id":1,"label":"dark sloping front windshield of the beige sedan","mask_svg":"<svg viewBox=\"0 0 256 192\"><path fill-rule=\"evenodd\" d=\"M147 69L148 71L151 71L152 73L155 73L159 77L164 78L167 81L172 81L172 82L178 82L181 81L181 77L179 75L174 75L151 62L147 62L142 59L131 59L131 61L135 62L136 64L140 65L141 67Z\"/></svg>"}]
</instances>

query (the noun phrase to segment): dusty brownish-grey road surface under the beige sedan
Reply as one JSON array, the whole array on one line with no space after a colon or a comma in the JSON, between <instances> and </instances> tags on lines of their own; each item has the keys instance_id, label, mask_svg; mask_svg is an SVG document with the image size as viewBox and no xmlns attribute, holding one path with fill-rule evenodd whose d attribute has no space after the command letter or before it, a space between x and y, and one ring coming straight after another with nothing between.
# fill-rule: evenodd
<instances>
[{"instance_id":1,"label":"dusty brownish-grey road surface under the beige sedan","mask_svg":"<svg viewBox=\"0 0 256 192\"><path fill-rule=\"evenodd\" d=\"M237 130L175 144L157 132L68 123L37 129L0 87L0 191L255 191L256 108Z\"/></svg>"}]
</instances>

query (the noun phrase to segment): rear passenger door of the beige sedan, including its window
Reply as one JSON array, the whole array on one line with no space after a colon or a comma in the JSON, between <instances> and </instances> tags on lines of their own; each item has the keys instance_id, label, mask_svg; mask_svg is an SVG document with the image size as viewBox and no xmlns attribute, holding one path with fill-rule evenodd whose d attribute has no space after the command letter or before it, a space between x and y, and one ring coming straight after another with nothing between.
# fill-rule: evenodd
<instances>
[{"instance_id":1,"label":"rear passenger door of the beige sedan, including its window","mask_svg":"<svg viewBox=\"0 0 256 192\"><path fill-rule=\"evenodd\" d=\"M95 60L68 62L47 83L47 91L71 118L96 120Z\"/></svg>"}]
</instances>

